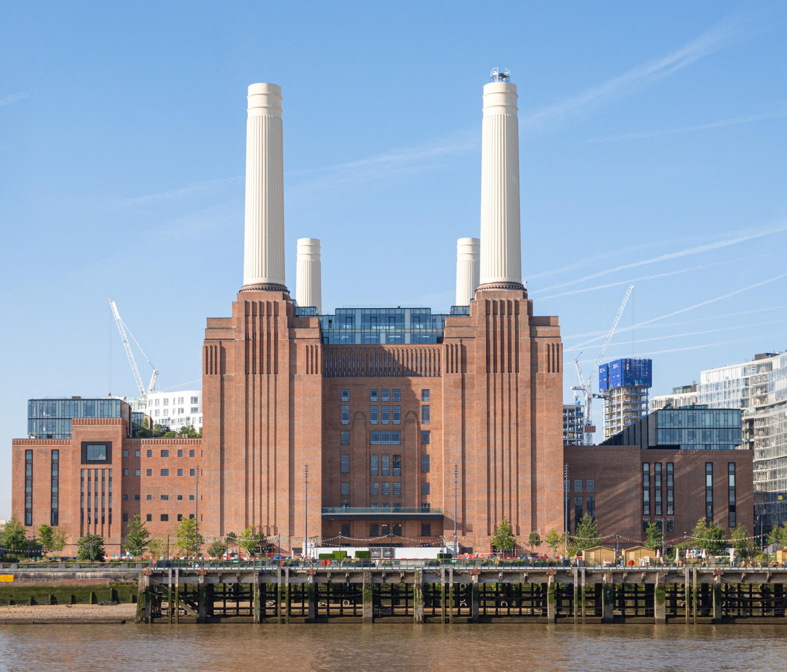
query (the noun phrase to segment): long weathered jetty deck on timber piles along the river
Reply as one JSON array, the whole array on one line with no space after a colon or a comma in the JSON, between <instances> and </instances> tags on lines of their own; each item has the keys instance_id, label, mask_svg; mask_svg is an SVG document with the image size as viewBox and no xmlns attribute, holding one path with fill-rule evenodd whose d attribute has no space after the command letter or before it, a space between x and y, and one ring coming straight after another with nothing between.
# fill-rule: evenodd
<instances>
[{"instance_id":1,"label":"long weathered jetty deck on timber piles along the river","mask_svg":"<svg viewBox=\"0 0 787 672\"><path fill-rule=\"evenodd\" d=\"M138 623L780 623L784 567L424 561L11 567L17 586L136 583Z\"/></svg>"}]
</instances>

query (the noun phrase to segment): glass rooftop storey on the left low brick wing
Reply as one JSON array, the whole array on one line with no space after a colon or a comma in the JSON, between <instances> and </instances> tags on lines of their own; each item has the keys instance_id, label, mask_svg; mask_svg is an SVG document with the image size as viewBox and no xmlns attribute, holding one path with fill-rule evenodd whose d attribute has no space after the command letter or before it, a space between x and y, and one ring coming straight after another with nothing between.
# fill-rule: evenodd
<instances>
[{"instance_id":1,"label":"glass rooftop storey on the left low brick wing","mask_svg":"<svg viewBox=\"0 0 787 672\"><path fill-rule=\"evenodd\" d=\"M131 431L131 406L120 399L43 398L28 399L28 437L71 439L75 417L124 417Z\"/></svg>"}]
</instances>

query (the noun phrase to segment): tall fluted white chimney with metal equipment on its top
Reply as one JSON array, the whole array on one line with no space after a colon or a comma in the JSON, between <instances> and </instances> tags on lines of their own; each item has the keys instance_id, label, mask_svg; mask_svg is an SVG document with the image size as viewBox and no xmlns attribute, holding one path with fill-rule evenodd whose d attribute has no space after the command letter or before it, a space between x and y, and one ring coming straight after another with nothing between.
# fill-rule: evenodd
<instances>
[{"instance_id":1,"label":"tall fluted white chimney with metal equipment on its top","mask_svg":"<svg viewBox=\"0 0 787 672\"><path fill-rule=\"evenodd\" d=\"M484 86L481 141L481 287L521 289L519 119L516 85L493 71Z\"/></svg>"}]
</instances>

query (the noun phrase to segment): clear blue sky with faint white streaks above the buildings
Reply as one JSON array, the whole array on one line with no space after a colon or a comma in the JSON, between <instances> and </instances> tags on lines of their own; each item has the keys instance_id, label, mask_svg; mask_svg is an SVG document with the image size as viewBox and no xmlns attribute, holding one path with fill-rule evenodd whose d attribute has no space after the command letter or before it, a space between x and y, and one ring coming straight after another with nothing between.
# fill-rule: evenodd
<instances>
[{"instance_id":1,"label":"clear blue sky with faint white streaks above the buildings","mask_svg":"<svg viewBox=\"0 0 787 672\"><path fill-rule=\"evenodd\" d=\"M327 310L453 302L501 66L519 86L523 276L560 316L567 399L629 283L608 358L652 356L654 394L785 348L787 6L489 8L6 5L0 517L28 398L135 391L109 297L162 388L199 384L205 318L242 283L253 82L283 87L287 281L295 240L320 238Z\"/></svg>"}]
</instances>

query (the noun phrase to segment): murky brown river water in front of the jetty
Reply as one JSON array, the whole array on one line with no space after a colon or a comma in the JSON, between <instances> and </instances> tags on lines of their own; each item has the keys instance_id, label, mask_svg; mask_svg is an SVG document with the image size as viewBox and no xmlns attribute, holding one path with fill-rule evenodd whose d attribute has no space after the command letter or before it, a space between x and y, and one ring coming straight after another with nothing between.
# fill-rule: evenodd
<instances>
[{"instance_id":1,"label":"murky brown river water in front of the jetty","mask_svg":"<svg viewBox=\"0 0 787 672\"><path fill-rule=\"evenodd\" d=\"M785 626L0 626L0 670L781 670Z\"/></svg>"}]
</instances>

